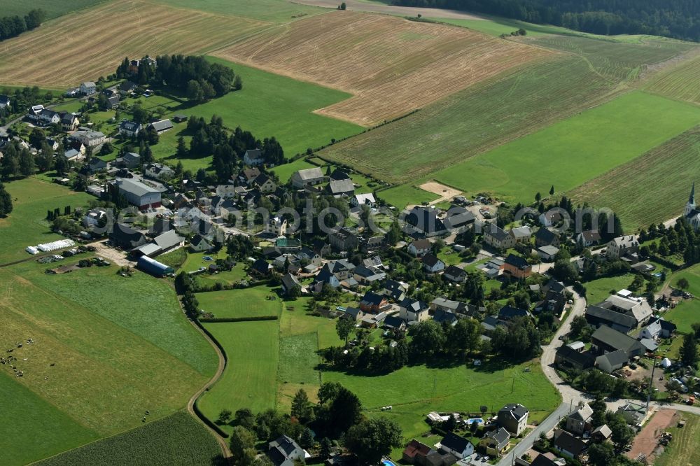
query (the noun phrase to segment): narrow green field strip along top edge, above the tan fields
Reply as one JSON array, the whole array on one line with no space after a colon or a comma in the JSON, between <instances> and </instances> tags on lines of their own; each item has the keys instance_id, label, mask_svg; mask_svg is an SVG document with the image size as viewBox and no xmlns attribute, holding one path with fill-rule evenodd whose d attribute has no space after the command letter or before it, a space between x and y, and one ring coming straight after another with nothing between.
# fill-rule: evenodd
<instances>
[{"instance_id":1,"label":"narrow green field strip along top edge, above the tan fields","mask_svg":"<svg viewBox=\"0 0 700 466\"><path fill-rule=\"evenodd\" d=\"M288 0L154 0L166 5L194 8L208 13L249 17L269 22L289 22L297 17L325 13L323 8Z\"/></svg>"}]
</instances>

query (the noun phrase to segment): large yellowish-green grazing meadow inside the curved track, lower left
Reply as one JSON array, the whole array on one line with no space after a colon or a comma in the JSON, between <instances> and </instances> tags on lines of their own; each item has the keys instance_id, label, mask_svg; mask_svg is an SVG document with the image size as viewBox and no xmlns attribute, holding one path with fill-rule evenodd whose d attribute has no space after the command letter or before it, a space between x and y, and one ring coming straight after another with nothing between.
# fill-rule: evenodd
<instances>
[{"instance_id":1,"label":"large yellowish-green grazing meadow inside the curved track, lower left","mask_svg":"<svg viewBox=\"0 0 700 466\"><path fill-rule=\"evenodd\" d=\"M113 266L51 276L45 268L31 261L0 269L0 347L34 339L15 349L24 376L13 383L45 402L23 416L51 418L59 410L88 432L114 435L141 425L146 410L158 418L181 409L216 370L214 350L175 307L174 294L165 295L165 282L139 272L123 278ZM12 374L8 365L0 370ZM14 425L15 418L0 417L3 432ZM66 429L76 431L67 422ZM45 439L49 446L58 434L32 434L13 436L3 453L43 458L31 445ZM73 440L64 449L83 438Z\"/></svg>"}]
</instances>

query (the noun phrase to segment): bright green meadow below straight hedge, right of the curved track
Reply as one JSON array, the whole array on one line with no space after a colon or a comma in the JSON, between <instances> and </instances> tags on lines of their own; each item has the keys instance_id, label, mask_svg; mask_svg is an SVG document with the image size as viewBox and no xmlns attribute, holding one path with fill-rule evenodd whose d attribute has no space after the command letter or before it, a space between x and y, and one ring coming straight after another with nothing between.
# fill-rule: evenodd
<instances>
[{"instance_id":1,"label":"bright green meadow below straight hedge, right of the curved track","mask_svg":"<svg viewBox=\"0 0 700 466\"><path fill-rule=\"evenodd\" d=\"M257 413L274 408L279 321L205 323L204 327L223 346L228 362L221 379L200 398L202 413L216 421L223 409L250 408Z\"/></svg>"}]
</instances>

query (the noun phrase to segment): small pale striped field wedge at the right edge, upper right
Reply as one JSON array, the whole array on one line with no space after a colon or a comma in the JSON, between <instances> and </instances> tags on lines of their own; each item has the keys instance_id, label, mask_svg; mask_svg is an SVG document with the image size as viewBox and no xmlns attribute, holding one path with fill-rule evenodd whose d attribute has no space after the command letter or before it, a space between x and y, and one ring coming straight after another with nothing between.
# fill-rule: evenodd
<instances>
[{"instance_id":1,"label":"small pale striped field wedge at the right edge, upper right","mask_svg":"<svg viewBox=\"0 0 700 466\"><path fill-rule=\"evenodd\" d=\"M700 55L668 66L650 78L644 88L666 97L700 104Z\"/></svg>"}]
</instances>

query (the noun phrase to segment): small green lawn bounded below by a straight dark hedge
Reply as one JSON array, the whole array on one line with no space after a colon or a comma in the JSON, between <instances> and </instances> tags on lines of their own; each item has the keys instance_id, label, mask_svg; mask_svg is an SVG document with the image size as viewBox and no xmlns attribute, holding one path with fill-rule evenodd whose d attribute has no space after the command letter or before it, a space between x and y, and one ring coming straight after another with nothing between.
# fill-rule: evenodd
<instances>
[{"instance_id":1,"label":"small green lawn bounded below by a straight dark hedge","mask_svg":"<svg viewBox=\"0 0 700 466\"><path fill-rule=\"evenodd\" d=\"M279 316L282 309L279 297L266 286L197 293L197 301L217 318Z\"/></svg>"}]
</instances>

